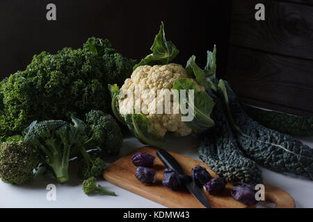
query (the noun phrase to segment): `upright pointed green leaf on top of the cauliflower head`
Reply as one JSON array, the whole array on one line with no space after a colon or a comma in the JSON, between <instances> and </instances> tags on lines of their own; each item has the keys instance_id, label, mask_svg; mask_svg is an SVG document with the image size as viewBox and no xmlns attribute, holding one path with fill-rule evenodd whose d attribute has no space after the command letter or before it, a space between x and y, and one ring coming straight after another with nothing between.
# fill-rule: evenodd
<instances>
[{"instance_id":1,"label":"upright pointed green leaf on top of the cauliflower head","mask_svg":"<svg viewBox=\"0 0 313 222\"><path fill-rule=\"evenodd\" d=\"M179 53L172 42L166 41L163 22L150 50L152 53L135 65L134 70L141 65L166 65Z\"/></svg>"}]
</instances>

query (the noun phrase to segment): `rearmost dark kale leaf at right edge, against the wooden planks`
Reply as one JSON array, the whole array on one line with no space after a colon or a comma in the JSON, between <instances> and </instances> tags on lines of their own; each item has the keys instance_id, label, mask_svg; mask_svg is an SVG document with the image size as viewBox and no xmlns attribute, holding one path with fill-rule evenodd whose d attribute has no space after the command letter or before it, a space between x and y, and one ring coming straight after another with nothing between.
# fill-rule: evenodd
<instances>
[{"instance_id":1,"label":"rearmost dark kale leaf at right edge, against the wooden planks","mask_svg":"<svg viewBox=\"0 0 313 222\"><path fill-rule=\"evenodd\" d=\"M313 117L298 117L282 112L267 111L245 105L252 119L263 126L289 135L313 135Z\"/></svg>"}]
</instances>

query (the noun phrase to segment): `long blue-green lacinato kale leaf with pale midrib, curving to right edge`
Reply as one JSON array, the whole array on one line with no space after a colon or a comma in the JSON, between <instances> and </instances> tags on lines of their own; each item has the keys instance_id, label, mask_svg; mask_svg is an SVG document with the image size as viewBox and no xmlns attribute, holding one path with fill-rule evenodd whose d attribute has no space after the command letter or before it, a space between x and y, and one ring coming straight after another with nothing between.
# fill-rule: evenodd
<instances>
[{"instance_id":1,"label":"long blue-green lacinato kale leaf with pale midrib, curving to right edge","mask_svg":"<svg viewBox=\"0 0 313 222\"><path fill-rule=\"evenodd\" d=\"M289 135L268 129L246 114L227 82L220 80L230 122L242 151L263 167L313 180L313 149Z\"/></svg>"}]
</instances>

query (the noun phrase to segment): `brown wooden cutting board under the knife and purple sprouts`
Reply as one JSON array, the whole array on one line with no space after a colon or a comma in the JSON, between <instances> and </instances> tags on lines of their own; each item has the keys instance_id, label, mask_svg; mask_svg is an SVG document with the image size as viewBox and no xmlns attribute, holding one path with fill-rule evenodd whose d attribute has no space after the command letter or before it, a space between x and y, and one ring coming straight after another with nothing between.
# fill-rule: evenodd
<instances>
[{"instance_id":1,"label":"brown wooden cutting board under the knife and purple sprouts","mask_svg":"<svg viewBox=\"0 0 313 222\"><path fill-rule=\"evenodd\" d=\"M144 146L139 148L134 153L145 152L150 153L157 157L156 148L151 146ZM135 194L153 200L161 205L165 205L166 207L172 208L200 208L203 207L198 200L196 200L187 189L183 189L182 191L171 191L166 187L163 187L161 181L163 179L163 163L157 157L156 166L154 167L157 170L157 182L154 185L144 185L139 182L134 176L136 167L131 162L131 156L134 153L130 153L125 157L121 157L116 162L113 162L109 167L104 170L104 179L113 183L114 185L118 185L124 189L127 189ZM205 167L211 176L217 177L217 175L207 167L206 164L200 162L198 160L194 160L190 157L186 157L184 155L180 155L177 153L169 152L179 164L181 164L182 169L184 169L185 173L188 175L191 174L191 169L193 169L196 165L201 165ZM251 207L243 205L238 201L234 200L232 196L230 196L230 191L232 189L231 184L227 184L225 191L223 194L218 196L212 196L210 194L206 194L209 203L211 203L212 207L220 207L220 208L244 208ZM279 189L278 187L273 187L271 185L265 185L265 198L268 201L271 201L276 204L276 207L295 207L295 203L293 198L287 192ZM255 206L252 206L255 207Z\"/></svg>"}]
</instances>

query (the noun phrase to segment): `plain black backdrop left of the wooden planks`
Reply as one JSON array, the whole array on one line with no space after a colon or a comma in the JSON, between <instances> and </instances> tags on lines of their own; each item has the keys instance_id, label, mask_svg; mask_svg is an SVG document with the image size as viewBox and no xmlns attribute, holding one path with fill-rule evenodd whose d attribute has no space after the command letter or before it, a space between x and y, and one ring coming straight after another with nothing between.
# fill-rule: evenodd
<instances>
[{"instance_id":1,"label":"plain black backdrop left of the wooden planks","mask_svg":"<svg viewBox=\"0 0 313 222\"><path fill-rule=\"evenodd\" d=\"M0 78L24 70L34 54L79 48L88 37L111 40L129 58L150 53L161 21L182 65L193 54L204 65L206 51L218 47L218 71L225 72L230 2L119 0L1 0ZM56 4L57 20L47 21L46 6Z\"/></svg>"}]
</instances>

